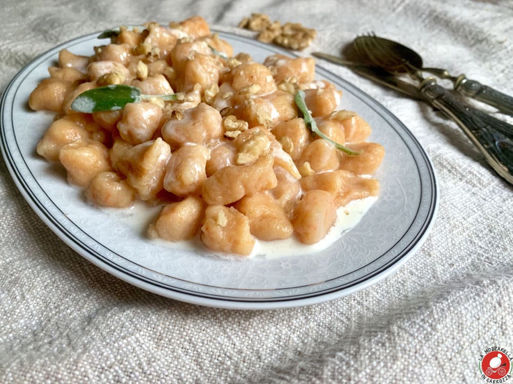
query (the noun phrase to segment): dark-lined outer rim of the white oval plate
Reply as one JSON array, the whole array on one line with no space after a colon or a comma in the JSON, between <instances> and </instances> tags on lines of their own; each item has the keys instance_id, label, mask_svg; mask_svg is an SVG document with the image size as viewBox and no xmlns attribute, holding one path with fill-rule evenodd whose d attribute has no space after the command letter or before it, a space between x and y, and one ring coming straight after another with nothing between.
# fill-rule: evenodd
<instances>
[{"instance_id":1,"label":"dark-lined outer rim of the white oval plate","mask_svg":"<svg viewBox=\"0 0 513 384\"><path fill-rule=\"evenodd\" d=\"M275 52L284 53L282 50L277 49L276 47L264 45L261 42L252 41L250 38L246 36L236 35L230 32L224 32L224 31L217 31L214 30L214 32L220 32L222 34L229 35L230 38L235 38L237 40L241 40L243 42L249 42L254 45L263 45L265 48L270 49ZM357 292L359 290L365 289L368 286L371 286L373 284L378 283L379 281L385 279L387 276L395 272L399 267L401 267L407 260L409 260L410 257L412 257L413 254L417 252L417 250L422 246L422 244L425 242L432 225L435 222L437 212L438 212L438 206L439 206L439 185L437 181L436 176L436 170L432 165L432 162L420 144L420 142L416 139L416 137L411 133L411 131L395 116L393 113L391 113L383 104L381 104L376 99L372 98L368 94L366 94L364 91L362 91L360 88L354 86L349 81L343 79L342 77L330 72L326 68L323 68L316 63L316 68L320 68L323 72L328 73L329 75L337 78L340 80L346 87L353 89L354 91L357 91L359 94L363 95L365 98L370 100L373 104L377 105L381 112L384 112L388 115L388 117L392 118L394 122L401 127L401 129L410 137L413 143L416 144L417 149L419 150L422 158L425 160L425 165L427 166L427 169L429 170L430 174L430 186L432 189L432 199L431 204L429 207L429 213L426 216L426 225L423 225L418 233L416 233L416 236L423 232L420 236L420 238L416 238L415 244L413 246L409 247L409 250L406 251L401 257L396 257L392 259L388 265L383 266L379 268L380 270L374 273L371 273L369 276L365 276L365 280L349 284L348 286L344 286L342 288L336 287L334 289L330 289L328 292L313 292L311 295L308 295L306 297L300 297L300 298L290 298L290 296L284 296L277 299L269 299L269 298L263 298L258 300L248 300L248 298L231 298L231 297L225 297L223 298L212 298L209 296L202 295L201 292L192 292L192 293L184 293L181 291L172 290L169 286L159 286L156 281L147 281L142 280L141 275L137 275L135 272L128 271L128 270L121 270L119 265L115 265L111 260L107 260L104 257L98 258L94 257L94 255L90 254L87 250L84 249L84 244L77 244L73 239L66 236L66 234L63 232L63 229L59 228L59 226L63 226L61 223L58 223L58 221L52 217L50 212L45 211L45 209L40 206L39 204L43 205L43 203L38 200L35 196L31 196L30 191L28 189L28 185L26 184L26 180L24 179L23 175L21 173L16 172L15 170L15 160L11 158L10 153L8 151L8 143L5 138L4 134L4 115L5 115L5 103L7 102L8 95L10 95L11 88L13 87L14 83L18 79L19 76L21 76L23 73L25 73L30 67L32 67L34 64L36 64L37 61L43 60L45 56L52 54L54 55L58 50L63 49L65 47L69 47L74 44L79 44L81 42L85 42L91 39L94 39L98 33L100 32L94 32L82 36L78 36L75 38L72 38L68 41L65 41L55 47L50 48L49 50L43 52L42 54L36 56L34 59L32 59L27 65L25 65L21 70L17 72L17 74L12 78L12 80L8 83L7 87L5 88L5 91L2 95L2 100L0 102L0 113L1 113L1 124L2 128L0 130L1 133L1 139L2 139L2 145L0 145L0 149L2 151L6 166L9 170L9 173L11 175L11 178L13 179L16 187L24 197L24 199L28 202L28 204L31 206L32 210L36 213L38 217L59 237L62 241L64 241L65 244L67 244L70 248L72 248L75 252L80 254L82 257L84 257L86 260L92 262L94 265L102 268L103 270L107 271L108 273L116 276L116 278L119 278L129 284L135 285L137 287L143 288L145 290L151 291L153 293L157 293L166 297L174 298L175 300L180 300L183 302L191 303L191 304L199 304L204 306L210 306L210 307L217 307L217 308L227 308L227 309L275 309L275 308L289 308L289 307L299 307L299 306L305 306L305 305L312 305L312 304L318 304L322 302L326 302L329 300L333 300L334 298L343 297L345 295ZM257 44L259 43L259 44ZM272 48L270 48L272 47ZM288 55L298 57L298 55L293 54L292 52L286 52ZM37 66L36 66L37 67ZM23 80L18 84L21 85ZM17 88L14 90L14 92L17 91ZM359 97L357 94L353 93L354 97ZM364 100L362 100L364 101ZM371 105L369 103L366 103L368 106L370 106L373 110L375 110L373 107L374 105ZM376 111L376 110L375 110ZM376 111L377 112L377 111ZM380 114L381 115L381 114ZM11 114L12 116L12 114ZM383 116L382 116L383 117ZM411 151L410 147L407 145L408 150ZM23 157L23 156L22 156ZM12 163L11 163L12 161ZM35 177L34 177L35 179ZM27 188L27 189L26 189ZM39 203L39 204L38 204ZM420 204L420 203L419 203ZM55 221L53 221L53 220ZM409 244L408 244L409 246ZM405 247L405 248L408 248ZM102 255L100 255L102 256ZM112 264L112 265L111 265ZM156 272L160 273L160 272ZM144 276L145 277L145 276ZM194 284L201 284L201 283L194 283ZM289 287L287 287L289 288ZM180 288L181 289L181 288ZM224 288L223 289L230 289L230 288ZM263 300L263 301L261 301Z\"/></svg>"}]
</instances>

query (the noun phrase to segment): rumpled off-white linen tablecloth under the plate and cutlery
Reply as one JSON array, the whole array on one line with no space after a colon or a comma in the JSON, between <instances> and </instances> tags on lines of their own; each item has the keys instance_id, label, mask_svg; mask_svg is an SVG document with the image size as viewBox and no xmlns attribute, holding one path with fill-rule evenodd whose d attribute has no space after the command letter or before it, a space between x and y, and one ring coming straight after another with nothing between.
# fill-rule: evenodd
<instances>
[{"instance_id":1,"label":"rumpled off-white linen tablecloth under the plate and cutlery","mask_svg":"<svg viewBox=\"0 0 513 384\"><path fill-rule=\"evenodd\" d=\"M427 66L513 94L507 0L4 0L1 12L2 92L31 59L72 37L195 14L248 35L236 25L263 12L317 29L310 50L339 54L372 30L416 48ZM438 219L407 264L364 291L304 308L173 301L68 248L0 160L0 382L484 382L483 351L513 349L513 188L429 106L323 65L396 114L436 168Z\"/></svg>"}]
</instances>

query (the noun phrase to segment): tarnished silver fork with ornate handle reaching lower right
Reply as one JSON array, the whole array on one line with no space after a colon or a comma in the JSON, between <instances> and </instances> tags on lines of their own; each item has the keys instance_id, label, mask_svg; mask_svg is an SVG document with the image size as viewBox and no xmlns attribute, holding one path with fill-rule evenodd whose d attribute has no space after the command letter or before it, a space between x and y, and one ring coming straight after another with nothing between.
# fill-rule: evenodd
<instances>
[{"instance_id":1,"label":"tarnished silver fork with ornate handle reaching lower right","mask_svg":"<svg viewBox=\"0 0 513 384\"><path fill-rule=\"evenodd\" d=\"M375 66L390 72L403 69L418 80L426 101L455 121L479 148L488 164L513 184L513 126L463 104L439 86L435 78L424 78L418 68L398 57L390 47L379 44L376 35L360 36L353 41L353 46L358 54L367 57Z\"/></svg>"}]
</instances>

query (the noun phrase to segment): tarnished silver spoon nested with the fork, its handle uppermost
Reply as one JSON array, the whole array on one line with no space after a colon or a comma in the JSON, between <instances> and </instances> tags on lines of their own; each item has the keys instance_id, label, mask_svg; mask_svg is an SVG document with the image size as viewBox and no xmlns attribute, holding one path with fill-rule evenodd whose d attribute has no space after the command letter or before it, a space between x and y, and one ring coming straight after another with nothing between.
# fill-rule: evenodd
<instances>
[{"instance_id":1,"label":"tarnished silver spoon nested with the fork, its handle uppermost","mask_svg":"<svg viewBox=\"0 0 513 384\"><path fill-rule=\"evenodd\" d=\"M463 94L464 96L472 97L488 105L495 106L499 111L513 116L513 97L491 87L485 86L479 81L470 80L464 74L452 76L445 69L424 68L422 57L412 49L400 44L399 42L388 40L383 37L378 37L376 35L372 35L372 37L379 41L384 48L392 51L397 57L402 58L404 63L409 63L412 67L415 67L420 71L432 73L440 78L451 80L454 83L455 91ZM357 39L358 38L359 37L357 37ZM405 72L403 66L398 66L396 69L390 67L384 69L394 72Z\"/></svg>"}]
</instances>

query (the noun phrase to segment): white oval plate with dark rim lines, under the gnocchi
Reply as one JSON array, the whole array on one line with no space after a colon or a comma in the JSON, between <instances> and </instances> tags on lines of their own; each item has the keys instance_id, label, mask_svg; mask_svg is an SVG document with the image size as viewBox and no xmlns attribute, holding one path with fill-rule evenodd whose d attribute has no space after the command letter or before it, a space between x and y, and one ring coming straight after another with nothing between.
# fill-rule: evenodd
<instances>
[{"instance_id":1,"label":"white oval plate with dark rim lines, under the gnocchi","mask_svg":"<svg viewBox=\"0 0 513 384\"><path fill-rule=\"evenodd\" d=\"M374 175L381 194L360 223L319 253L258 260L224 260L194 250L155 245L127 225L128 210L92 207L69 186L62 167L35 153L53 113L33 112L28 97L48 76L58 52L91 55L105 44L98 34L79 37L37 57L10 82L2 98L2 153L17 187L36 214L72 249L135 286L184 302L234 309L272 309L321 303L366 288L404 263L426 239L438 206L432 165L408 129L380 103L317 67L317 77L342 89L342 108L372 127L370 141L384 145ZM220 33L234 52L262 62L274 53L259 41Z\"/></svg>"}]
</instances>

